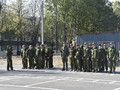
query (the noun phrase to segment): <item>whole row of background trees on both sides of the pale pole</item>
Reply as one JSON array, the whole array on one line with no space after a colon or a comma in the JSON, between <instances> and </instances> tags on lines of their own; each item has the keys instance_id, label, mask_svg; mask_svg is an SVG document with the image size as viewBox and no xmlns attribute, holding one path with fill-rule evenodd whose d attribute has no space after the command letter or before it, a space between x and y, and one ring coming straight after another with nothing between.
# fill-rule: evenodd
<instances>
[{"instance_id":1,"label":"whole row of background trees on both sides of the pale pole","mask_svg":"<svg viewBox=\"0 0 120 90\"><path fill-rule=\"evenodd\" d=\"M15 0L3 5L0 32L3 38L17 37L37 42L41 34L41 0ZM120 30L120 2L108 0L45 0L44 36L58 49L80 33ZM7 37L6 37L7 35Z\"/></svg>"}]
</instances>

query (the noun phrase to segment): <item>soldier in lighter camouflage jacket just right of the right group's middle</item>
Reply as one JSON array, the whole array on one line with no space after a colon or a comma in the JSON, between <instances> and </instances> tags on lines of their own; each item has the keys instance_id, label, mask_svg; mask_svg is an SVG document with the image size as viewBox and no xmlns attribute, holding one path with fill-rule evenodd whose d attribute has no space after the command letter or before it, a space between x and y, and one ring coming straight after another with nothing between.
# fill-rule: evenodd
<instances>
[{"instance_id":1,"label":"soldier in lighter camouflage jacket just right of the right group's middle","mask_svg":"<svg viewBox=\"0 0 120 90\"><path fill-rule=\"evenodd\" d=\"M91 49L91 60L92 60L92 71L98 72L98 49L93 43L93 48Z\"/></svg>"}]
</instances>

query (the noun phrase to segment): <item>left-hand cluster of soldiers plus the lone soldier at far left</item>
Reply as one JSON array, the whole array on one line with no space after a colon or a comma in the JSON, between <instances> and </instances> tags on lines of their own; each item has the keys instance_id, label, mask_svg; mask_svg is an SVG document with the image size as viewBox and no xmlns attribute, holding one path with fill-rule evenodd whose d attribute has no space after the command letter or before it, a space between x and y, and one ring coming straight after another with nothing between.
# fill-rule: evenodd
<instances>
[{"instance_id":1,"label":"left-hand cluster of soldiers plus the lone soldier at far left","mask_svg":"<svg viewBox=\"0 0 120 90\"><path fill-rule=\"evenodd\" d=\"M22 45L20 55L22 57L22 69L44 69L53 68L53 54L52 48L47 45L36 44L36 47L30 45L28 48ZM12 48L7 46L7 70L13 70L12 65Z\"/></svg>"}]
</instances>

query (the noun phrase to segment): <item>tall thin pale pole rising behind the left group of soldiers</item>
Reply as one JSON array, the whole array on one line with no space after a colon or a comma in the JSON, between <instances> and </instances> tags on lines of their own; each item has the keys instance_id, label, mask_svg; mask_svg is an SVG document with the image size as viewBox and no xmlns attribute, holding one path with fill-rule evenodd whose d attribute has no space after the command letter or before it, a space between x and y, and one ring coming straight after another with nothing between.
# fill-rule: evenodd
<instances>
[{"instance_id":1,"label":"tall thin pale pole rising behind the left group of soldiers","mask_svg":"<svg viewBox=\"0 0 120 90\"><path fill-rule=\"evenodd\" d=\"M41 36L42 36L42 44L44 44L44 9L43 9L43 6L44 6L44 1L42 1L42 5L41 5L41 30L42 30L42 33L41 33Z\"/></svg>"}]
</instances>

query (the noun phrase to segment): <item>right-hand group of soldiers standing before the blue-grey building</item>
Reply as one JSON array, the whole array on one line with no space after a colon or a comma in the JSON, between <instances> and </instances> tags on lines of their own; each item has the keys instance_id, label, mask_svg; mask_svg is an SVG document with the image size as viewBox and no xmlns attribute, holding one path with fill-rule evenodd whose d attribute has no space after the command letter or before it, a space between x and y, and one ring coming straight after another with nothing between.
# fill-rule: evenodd
<instances>
[{"instance_id":1,"label":"right-hand group of soldiers standing before the blue-grey building","mask_svg":"<svg viewBox=\"0 0 120 90\"><path fill-rule=\"evenodd\" d=\"M69 58L71 71L108 72L109 63L109 73L115 73L117 55L112 42L109 44L109 48L106 47L106 44L100 44L97 47L95 43L87 44L86 42L81 46L70 44L68 48L66 43L63 43L61 48L62 70L68 71Z\"/></svg>"}]
</instances>

